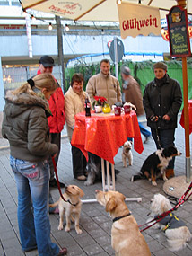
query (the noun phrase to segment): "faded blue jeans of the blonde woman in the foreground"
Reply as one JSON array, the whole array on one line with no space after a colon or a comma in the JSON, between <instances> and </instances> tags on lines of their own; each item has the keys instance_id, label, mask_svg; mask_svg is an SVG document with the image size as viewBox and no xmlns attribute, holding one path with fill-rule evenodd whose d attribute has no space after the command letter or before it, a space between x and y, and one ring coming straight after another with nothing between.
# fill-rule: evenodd
<instances>
[{"instance_id":1,"label":"faded blue jeans of the blonde woman in the foreground","mask_svg":"<svg viewBox=\"0 0 192 256\"><path fill-rule=\"evenodd\" d=\"M59 248L50 239L48 216L49 165L10 156L18 191L18 225L22 251L38 247L39 256L56 256Z\"/></svg>"}]
</instances>

